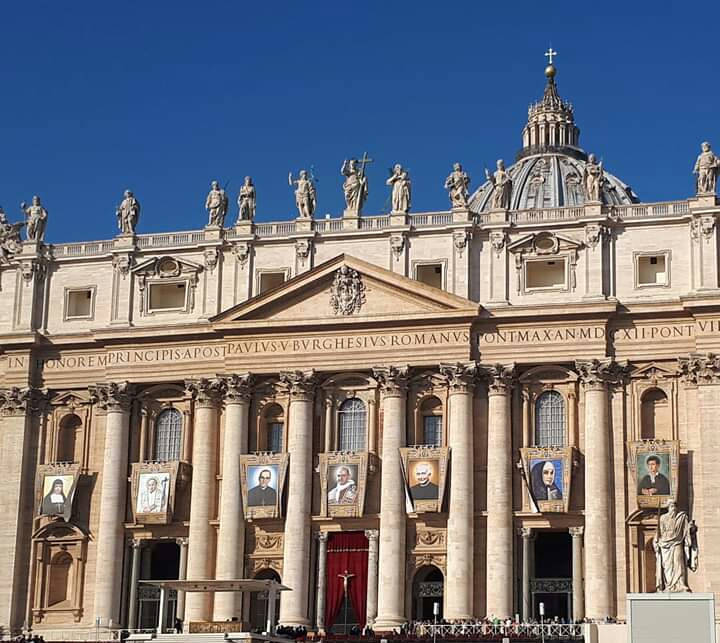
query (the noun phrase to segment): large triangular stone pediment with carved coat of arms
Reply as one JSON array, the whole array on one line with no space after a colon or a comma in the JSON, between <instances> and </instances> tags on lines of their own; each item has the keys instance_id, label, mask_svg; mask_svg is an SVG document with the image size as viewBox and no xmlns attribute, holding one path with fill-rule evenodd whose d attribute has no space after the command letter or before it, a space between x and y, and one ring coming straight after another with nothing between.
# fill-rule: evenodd
<instances>
[{"instance_id":1,"label":"large triangular stone pediment with carved coat of arms","mask_svg":"<svg viewBox=\"0 0 720 643\"><path fill-rule=\"evenodd\" d=\"M473 316L468 299L342 254L210 321L352 323L391 318Z\"/></svg>"}]
</instances>

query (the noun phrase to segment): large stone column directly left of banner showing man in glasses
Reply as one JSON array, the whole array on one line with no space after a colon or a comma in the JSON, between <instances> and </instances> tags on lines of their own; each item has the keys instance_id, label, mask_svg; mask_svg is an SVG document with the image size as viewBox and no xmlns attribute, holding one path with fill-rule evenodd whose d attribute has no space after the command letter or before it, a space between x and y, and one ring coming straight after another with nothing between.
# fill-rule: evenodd
<instances>
[{"instance_id":1,"label":"large stone column directly left of banner showing man in glasses","mask_svg":"<svg viewBox=\"0 0 720 643\"><path fill-rule=\"evenodd\" d=\"M247 453L252 376L231 375L225 380L225 431L222 448L220 488L220 526L215 578L236 580L243 577L245 558L245 517L240 492L240 456ZM242 618L242 593L215 595L215 620Z\"/></svg>"}]
</instances>

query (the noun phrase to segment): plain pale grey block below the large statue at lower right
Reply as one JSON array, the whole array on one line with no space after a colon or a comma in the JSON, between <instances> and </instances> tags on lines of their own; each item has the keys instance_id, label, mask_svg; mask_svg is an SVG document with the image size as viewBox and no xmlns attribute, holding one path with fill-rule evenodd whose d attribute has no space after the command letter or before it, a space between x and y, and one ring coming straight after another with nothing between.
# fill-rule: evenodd
<instances>
[{"instance_id":1,"label":"plain pale grey block below the large statue at lower right","mask_svg":"<svg viewBox=\"0 0 720 643\"><path fill-rule=\"evenodd\" d=\"M628 594L628 641L716 643L713 594Z\"/></svg>"}]
</instances>

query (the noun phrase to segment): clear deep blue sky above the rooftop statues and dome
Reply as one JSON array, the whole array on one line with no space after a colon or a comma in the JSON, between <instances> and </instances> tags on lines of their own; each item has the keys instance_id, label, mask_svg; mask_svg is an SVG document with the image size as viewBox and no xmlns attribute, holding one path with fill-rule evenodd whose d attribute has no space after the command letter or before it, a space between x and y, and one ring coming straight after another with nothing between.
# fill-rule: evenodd
<instances>
[{"instance_id":1,"label":"clear deep blue sky above the rooftop statues and dome","mask_svg":"<svg viewBox=\"0 0 720 643\"><path fill-rule=\"evenodd\" d=\"M447 209L461 161L510 162L543 52L580 141L643 201L691 194L705 139L720 149L720 3L19 2L0 6L0 204L40 194L46 240L110 238L125 188L138 232L206 222L246 174L258 220L295 216L289 171L313 165L339 214L343 158L364 151L367 214L400 162L413 210ZM235 208L228 215L234 220Z\"/></svg>"}]
</instances>

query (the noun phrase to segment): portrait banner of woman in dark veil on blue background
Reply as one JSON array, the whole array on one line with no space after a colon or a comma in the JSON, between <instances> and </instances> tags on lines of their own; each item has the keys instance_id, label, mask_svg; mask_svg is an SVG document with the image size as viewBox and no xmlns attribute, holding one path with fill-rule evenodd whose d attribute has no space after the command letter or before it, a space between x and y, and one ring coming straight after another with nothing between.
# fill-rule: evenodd
<instances>
[{"instance_id":1,"label":"portrait banner of woman in dark veil on blue background","mask_svg":"<svg viewBox=\"0 0 720 643\"><path fill-rule=\"evenodd\" d=\"M532 510L567 513L572 485L572 447L527 447L520 453Z\"/></svg>"}]
</instances>

